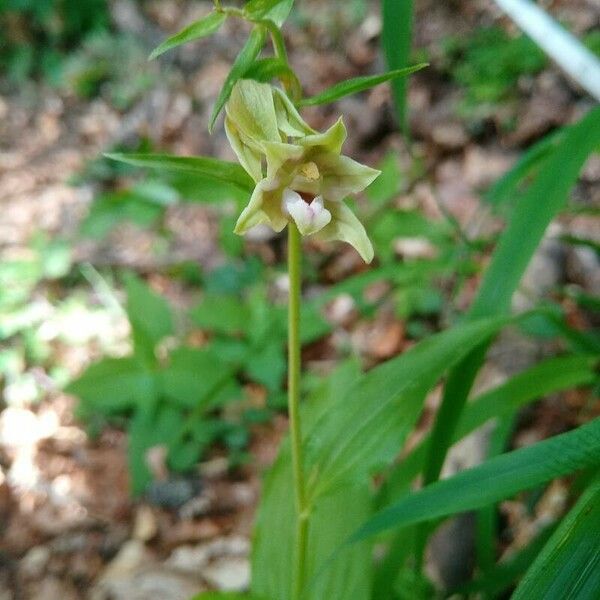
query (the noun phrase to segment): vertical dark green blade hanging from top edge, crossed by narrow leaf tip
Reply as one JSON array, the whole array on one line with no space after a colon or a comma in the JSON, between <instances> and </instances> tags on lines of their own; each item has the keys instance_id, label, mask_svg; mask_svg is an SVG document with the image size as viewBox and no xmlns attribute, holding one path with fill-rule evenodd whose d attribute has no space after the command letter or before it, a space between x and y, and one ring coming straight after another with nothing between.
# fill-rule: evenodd
<instances>
[{"instance_id":1,"label":"vertical dark green blade hanging from top edge, crossed by narrow leaf tip","mask_svg":"<svg viewBox=\"0 0 600 600\"><path fill-rule=\"evenodd\" d=\"M408 65L412 46L413 0L381 0L383 28L381 45L388 69L403 69ZM406 79L392 82L396 115L401 130L408 133Z\"/></svg>"}]
</instances>

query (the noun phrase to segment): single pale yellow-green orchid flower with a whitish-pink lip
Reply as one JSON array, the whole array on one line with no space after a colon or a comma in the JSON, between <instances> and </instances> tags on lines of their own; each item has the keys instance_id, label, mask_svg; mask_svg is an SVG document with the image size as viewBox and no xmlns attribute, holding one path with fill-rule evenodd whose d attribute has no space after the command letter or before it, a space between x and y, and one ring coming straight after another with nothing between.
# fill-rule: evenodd
<instances>
[{"instance_id":1,"label":"single pale yellow-green orchid flower with a whitish-pink lip","mask_svg":"<svg viewBox=\"0 0 600 600\"><path fill-rule=\"evenodd\" d=\"M348 242L371 262L365 228L343 200L364 190L379 171L341 155L342 119L318 133L281 90L249 79L236 83L226 113L231 147L256 182L235 232L259 223L281 231L293 219L302 235Z\"/></svg>"}]
</instances>

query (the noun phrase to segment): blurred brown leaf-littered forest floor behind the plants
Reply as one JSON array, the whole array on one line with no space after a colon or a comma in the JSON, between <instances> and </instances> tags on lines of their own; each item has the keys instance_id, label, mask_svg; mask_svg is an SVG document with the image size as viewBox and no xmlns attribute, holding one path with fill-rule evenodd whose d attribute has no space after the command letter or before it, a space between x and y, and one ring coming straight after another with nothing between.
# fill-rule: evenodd
<instances>
[{"instance_id":1,"label":"blurred brown leaf-littered forest floor behind the plants","mask_svg":"<svg viewBox=\"0 0 600 600\"><path fill-rule=\"evenodd\" d=\"M165 34L206 12L209 4L155 1L141 11L132 2L115 0L113 19L117 32L135 37L150 50ZM297 4L299 16L286 26L285 36L307 93L384 69L377 3L365 3L360 19L353 14L359 3L344 3L345 8L310 0ZM578 35L600 22L597 3L547 4ZM576 120L593 102L547 65L519 76L516 86L509 83L502 101L481 114L461 109L469 90L449 74L448 40L482 27L513 31L512 26L491 0L422 0L417 5L416 54L426 57L431 67L410 80L412 153L419 158L421 172L401 200L434 220L449 215L466 235L493 231L499 220L482 203L483 191L525 148ZM209 136L207 122L245 31L239 23L227 23L213 38L168 55L160 64L124 58L125 73L129 69L137 76L147 69L152 77L126 108L115 103L114 89L101 88L96 97L85 100L39 82L28 82L18 91L1 88L0 261L43 255L55 249L54 240L62 240L69 248L69 268L83 271L87 278L58 289L52 281L40 281L30 290L27 304L36 315L33 327L48 341L52 368L44 366L48 361L25 364L19 377L0 379L0 600L188 600L205 589L247 586L260 478L285 432L283 414L252 428L247 464L230 469L224 450L217 447L199 465L193 485L185 477L166 476L153 488L152 497L132 499L126 433L110 427L90 436L75 415L76 399L61 392L60 383L100 356L122 355L129 348L129 324L122 310L102 295L100 273L134 270L175 305L189 306L193 293L169 275L169 267L192 261L209 271L227 260L211 205L168 207L163 223L167 235L161 232L160 239L155 230L129 223L119 224L102 239L82 238L79 228L102 187L89 173L103 151L149 140L153 148L177 154L233 159L222 127ZM116 77L126 80L125 73ZM394 124L387 85L332 108L311 108L305 115L322 129L340 113L349 131L346 154L377 165L394 151L408 168L411 156ZM600 204L598 157L586 165L574 195L581 202ZM559 226L561 233L573 235L597 236L600 231L591 217L568 217ZM159 242L163 246L157 252ZM541 297L559 282L575 282L599 293L597 263L590 264L579 249L557 250L556 243L549 240L538 253L527 276L528 294ZM248 248L267 262L277 259L272 239L252 241ZM414 247L397 247L399 255L411 251ZM327 261L323 278L340 281L361 268L353 251L339 248ZM477 282L477 277L468 281L458 310L468 305ZM118 304L122 292L117 289L113 298ZM71 300L76 308L63 310ZM338 323L331 337L343 331L367 365L411 343L405 323L385 308L369 320L347 319L343 299L331 310ZM584 319L576 309L572 318ZM20 333L17 337L7 343L27 344ZM548 351L514 339L502 344L481 387ZM332 346L329 341L308 348L306 365L335 362ZM435 402L431 398L429 410ZM535 405L520 421L513 444L578 424L586 402L585 393L574 391ZM472 449L464 453L457 458L462 465L473 460ZM160 464L156 472L160 475ZM565 489L566 483L552 486L535 518L543 518L544 510L560 513ZM503 511L513 529L512 541L526 536L532 520L522 507L506 503Z\"/></svg>"}]
</instances>

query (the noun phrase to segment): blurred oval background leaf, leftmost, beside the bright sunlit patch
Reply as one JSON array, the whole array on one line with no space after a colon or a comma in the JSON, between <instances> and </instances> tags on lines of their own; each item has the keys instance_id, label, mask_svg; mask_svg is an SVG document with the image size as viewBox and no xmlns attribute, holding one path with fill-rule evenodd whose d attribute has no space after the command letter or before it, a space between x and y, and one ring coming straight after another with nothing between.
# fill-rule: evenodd
<instances>
[{"instance_id":1,"label":"blurred oval background leaf, leftmost, beside the bright sunlit patch","mask_svg":"<svg viewBox=\"0 0 600 600\"><path fill-rule=\"evenodd\" d=\"M152 373L135 358L104 358L90 365L65 389L81 399L86 412L120 413L155 395Z\"/></svg>"}]
</instances>

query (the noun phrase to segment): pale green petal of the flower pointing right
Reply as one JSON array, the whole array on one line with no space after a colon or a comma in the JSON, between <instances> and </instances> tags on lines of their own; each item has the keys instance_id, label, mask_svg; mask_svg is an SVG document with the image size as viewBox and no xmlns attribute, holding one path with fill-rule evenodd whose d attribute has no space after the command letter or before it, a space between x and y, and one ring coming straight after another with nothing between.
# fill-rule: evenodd
<instances>
[{"instance_id":1,"label":"pale green petal of the flower pointing right","mask_svg":"<svg viewBox=\"0 0 600 600\"><path fill-rule=\"evenodd\" d=\"M339 201L350 194L362 192L381 173L347 156L321 154L313 158L323 181L321 194L325 200Z\"/></svg>"}]
</instances>

